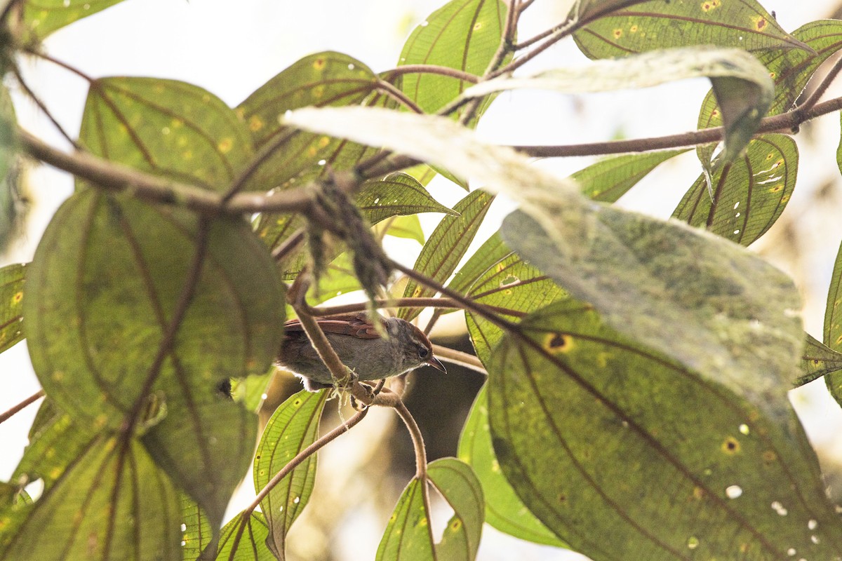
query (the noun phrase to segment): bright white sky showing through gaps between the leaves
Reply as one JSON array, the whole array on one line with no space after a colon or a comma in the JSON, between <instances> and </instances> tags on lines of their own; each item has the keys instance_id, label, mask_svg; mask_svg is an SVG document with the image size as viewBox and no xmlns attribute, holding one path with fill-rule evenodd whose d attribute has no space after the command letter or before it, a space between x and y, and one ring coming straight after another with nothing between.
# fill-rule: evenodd
<instances>
[{"instance_id":1,"label":"bright white sky showing through gaps between the leaves","mask_svg":"<svg viewBox=\"0 0 842 561\"><path fill-rule=\"evenodd\" d=\"M46 40L45 47L51 55L94 77L178 78L205 87L226 103L236 105L301 56L320 50L340 50L375 71L386 70L397 62L402 42L413 26L441 3L441 0L238 0L236 3L227 0L126 0L56 32ZM778 22L790 31L826 16L834 5L830 0L800 3L765 0L761 3L767 10L774 10ZM520 36L528 37L560 21L564 12L561 4L556 0L536 0L525 17ZM547 53L541 66L584 63L584 57L571 45L560 45ZM77 131L85 84L67 71L45 63L25 64L24 71L30 85L67 130ZM610 93L589 98L550 93L505 93L493 104L479 132L505 144L568 144L606 140L616 135L634 137L683 132L695 128L697 103L707 87L704 81L690 81L643 93ZM685 96L694 101L682 103ZM45 140L64 146L61 137L40 119L31 103L19 103L18 110L24 127ZM807 327L820 336L823 302L842 237L842 224L835 218L838 209L833 213L815 214L811 203L813 192L826 181L836 180L838 175L834 171L834 153L839 124L833 117L822 119L811 134L811 141L799 142L802 157L813 152L810 157L818 158L820 163L802 166L799 170L797 194L785 216L808 214L815 217L810 219L813 223L818 222L817 230L800 234L806 243L818 246L818 251L805 253L795 262L801 273L798 282L807 295ZM658 213L668 216L699 172L694 158L688 155L668 162L652 174L645 187L642 185L626 198L625 204L651 211L655 201ZM589 160L571 159L542 161L540 165L567 175L587 163ZM31 182L37 204L29 233L3 262L29 261L46 221L71 190L67 177L47 169L34 172ZM455 204L462 196L461 191L445 182L434 182L430 190L440 202L448 205ZM428 233L433 225L424 223ZM495 229L495 225L489 224L477 236L477 241L484 241ZM401 251L417 251L417 246L399 247ZM786 257L774 260L781 267L792 266ZM0 375L5 389L0 397L0 410L8 409L39 389L23 343L0 355ZM823 394L823 389L817 387L802 392L796 400L821 402ZM0 449L3 450L0 479L8 479L12 473L26 444L26 431L35 410L35 406L30 407L12 421L0 425ZM837 420L842 416L834 407L813 409L803 416L811 435L823 445L832 447L838 429L832 428L831 415ZM842 447L839 443L835 443L835 447L834 455L842 457ZM484 548L482 558L502 558L489 549ZM546 554L543 553L542 558L546 558Z\"/></svg>"}]
</instances>

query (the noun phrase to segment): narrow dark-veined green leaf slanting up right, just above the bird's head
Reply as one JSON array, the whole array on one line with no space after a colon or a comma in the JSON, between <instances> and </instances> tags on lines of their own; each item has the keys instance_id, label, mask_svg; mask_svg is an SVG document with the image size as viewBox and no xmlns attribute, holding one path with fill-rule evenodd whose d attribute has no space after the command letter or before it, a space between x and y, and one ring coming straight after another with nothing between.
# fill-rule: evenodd
<instances>
[{"instance_id":1,"label":"narrow dark-veined green leaf slanting up right, just above the bird's head","mask_svg":"<svg viewBox=\"0 0 842 561\"><path fill-rule=\"evenodd\" d=\"M453 209L458 215L445 216L441 220L421 249L413 269L440 283L450 278L477 235L493 200L493 195L477 190L456 203ZM421 286L412 279L403 290L404 298L424 298L434 294L433 289ZM411 320L420 312L418 308L402 308L398 310L397 316Z\"/></svg>"}]
</instances>

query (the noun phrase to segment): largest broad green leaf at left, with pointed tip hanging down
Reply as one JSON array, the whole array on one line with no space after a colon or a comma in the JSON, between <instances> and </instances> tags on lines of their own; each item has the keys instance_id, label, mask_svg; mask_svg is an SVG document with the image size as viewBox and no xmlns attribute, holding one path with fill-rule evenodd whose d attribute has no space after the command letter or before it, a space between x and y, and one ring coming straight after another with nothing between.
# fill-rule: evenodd
<instances>
[{"instance_id":1,"label":"largest broad green leaf at left, with pointed tip hanging down","mask_svg":"<svg viewBox=\"0 0 842 561\"><path fill-rule=\"evenodd\" d=\"M214 220L195 295L157 363L197 220L123 195L75 194L29 267L24 315L51 399L95 429L133 422L142 431L136 414L157 410L142 442L218 528L251 459L256 418L217 388L269 368L283 307L274 263L248 225Z\"/></svg>"}]
</instances>

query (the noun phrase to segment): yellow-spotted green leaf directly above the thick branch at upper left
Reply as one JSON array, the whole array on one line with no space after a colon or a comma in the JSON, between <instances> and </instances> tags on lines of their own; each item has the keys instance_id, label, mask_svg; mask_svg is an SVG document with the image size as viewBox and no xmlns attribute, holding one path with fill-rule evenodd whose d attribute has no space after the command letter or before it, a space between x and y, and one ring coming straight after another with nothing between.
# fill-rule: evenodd
<instances>
[{"instance_id":1,"label":"yellow-spotted green leaf directly above the thick branch at upper left","mask_svg":"<svg viewBox=\"0 0 842 561\"><path fill-rule=\"evenodd\" d=\"M253 157L233 109L201 87L161 78L91 82L79 140L96 156L213 191L229 188Z\"/></svg>"}]
</instances>

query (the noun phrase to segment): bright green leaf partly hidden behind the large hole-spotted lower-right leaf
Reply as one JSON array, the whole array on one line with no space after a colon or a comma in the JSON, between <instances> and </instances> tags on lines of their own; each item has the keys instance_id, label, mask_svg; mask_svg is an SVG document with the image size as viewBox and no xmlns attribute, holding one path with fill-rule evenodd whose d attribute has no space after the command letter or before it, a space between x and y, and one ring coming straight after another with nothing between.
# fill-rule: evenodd
<instances>
[{"instance_id":1,"label":"bright green leaf partly hidden behind the large hole-spotted lower-right leaf","mask_svg":"<svg viewBox=\"0 0 842 561\"><path fill-rule=\"evenodd\" d=\"M529 542L566 548L567 544L541 524L525 507L500 471L488 426L487 387L482 386L459 437L459 458L470 465L482 482L485 495L485 521L514 537Z\"/></svg>"}]
</instances>

